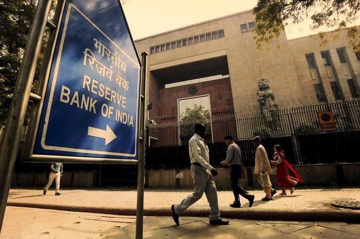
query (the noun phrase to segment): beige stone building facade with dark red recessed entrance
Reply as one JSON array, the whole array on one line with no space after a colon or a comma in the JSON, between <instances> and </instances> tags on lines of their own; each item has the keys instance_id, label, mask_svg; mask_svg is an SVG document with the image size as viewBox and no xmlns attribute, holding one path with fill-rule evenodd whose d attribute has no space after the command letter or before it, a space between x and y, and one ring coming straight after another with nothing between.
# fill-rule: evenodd
<instances>
[{"instance_id":1,"label":"beige stone building facade with dark red recessed entrance","mask_svg":"<svg viewBox=\"0 0 360 239\"><path fill-rule=\"evenodd\" d=\"M149 52L150 118L178 121L186 105L201 102L213 116L258 112L262 78L280 108L359 97L360 53L346 30L323 47L318 36L288 40L283 32L270 49L258 49L254 21L247 10L136 40L139 52Z\"/></svg>"}]
</instances>

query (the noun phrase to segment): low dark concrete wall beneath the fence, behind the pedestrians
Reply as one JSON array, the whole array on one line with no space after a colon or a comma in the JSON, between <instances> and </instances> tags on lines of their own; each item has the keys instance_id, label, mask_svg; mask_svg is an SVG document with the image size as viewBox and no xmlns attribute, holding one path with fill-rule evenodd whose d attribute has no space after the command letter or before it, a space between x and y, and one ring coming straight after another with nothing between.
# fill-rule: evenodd
<instances>
[{"instance_id":1,"label":"low dark concrete wall beneath the fence, behind the pedestrians","mask_svg":"<svg viewBox=\"0 0 360 239\"><path fill-rule=\"evenodd\" d=\"M331 185L360 185L360 163L345 164L319 164L294 166L307 186ZM245 188L259 188L254 168L245 170L245 178L240 184ZM219 175L215 177L218 189L229 189L229 169L218 169ZM148 188L183 188L193 186L190 170L180 170L182 178L175 178L175 170L146 171L146 186ZM277 187L276 175L270 175L273 186ZM61 187L64 188L94 188L99 184L98 172L64 172L61 177ZM47 183L46 173L14 173L12 187L44 187ZM121 185L119 185L121 187Z\"/></svg>"}]
</instances>

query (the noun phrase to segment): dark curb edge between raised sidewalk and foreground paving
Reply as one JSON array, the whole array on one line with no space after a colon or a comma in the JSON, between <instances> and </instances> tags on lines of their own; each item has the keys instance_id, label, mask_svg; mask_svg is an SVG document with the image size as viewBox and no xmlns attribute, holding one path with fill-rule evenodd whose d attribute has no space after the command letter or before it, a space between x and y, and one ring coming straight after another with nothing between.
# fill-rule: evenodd
<instances>
[{"instance_id":1,"label":"dark curb edge between raised sidewalk and foreground paving","mask_svg":"<svg viewBox=\"0 0 360 239\"><path fill-rule=\"evenodd\" d=\"M135 208L121 207L91 207L54 205L30 202L7 202L7 206L32 207L52 210L91 212L114 215L136 216ZM251 220L281 220L281 221L327 221L327 222L360 222L360 211L336 210L336 209L220 209L223 218L251 219ZM171 216L170 207L144 208L144 216ZM181 216L208 217L208 208L192 207L187 209Z\"/></svg>"}]
</instances>

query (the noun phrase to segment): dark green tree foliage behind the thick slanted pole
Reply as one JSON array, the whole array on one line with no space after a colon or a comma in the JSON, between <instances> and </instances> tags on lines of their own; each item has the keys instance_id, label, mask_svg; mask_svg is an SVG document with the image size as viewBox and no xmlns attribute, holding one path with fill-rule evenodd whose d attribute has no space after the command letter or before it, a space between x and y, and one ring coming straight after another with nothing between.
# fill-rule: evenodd
<instances>
[{"instance_id":1,"label":"dark green tree foliage behind the thick slanted pole","mask_svg":"<svg viewBox=\"0 0 360 239\"><path fill-rule=\"evenodd\" d=\"M0 127L6 121L36 5L37 0L0 0ZM46 31L35 79L40 74L48 36Z\"/></svg>"}]
</instances>

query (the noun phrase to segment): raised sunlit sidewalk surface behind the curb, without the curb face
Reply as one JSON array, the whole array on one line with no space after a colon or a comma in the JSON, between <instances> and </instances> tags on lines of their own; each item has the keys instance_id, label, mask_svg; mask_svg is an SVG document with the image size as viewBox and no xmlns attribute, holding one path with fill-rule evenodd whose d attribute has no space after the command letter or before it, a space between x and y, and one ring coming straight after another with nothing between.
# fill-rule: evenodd
<instances>
[{"instance_id":1,"label":"raised sunlit sidewalk surface behind the curb, without the curb face","mask_svg":"<svg viewBox=\"0 0 360 239\"><path fill-rule=\"evenodd\" d=\"M50 188L51 189L51 188ZM332 209L331 202L338 199L350 198L360 199L360 189L305 189L296 190L293 195L274 196L273 201L263 202L263 191L250 191L255 194L255 202L252 208L257 209ZM96 206L96 207L118 207L136 209L135 190L116 189L94 189L94 190L61 190L60 196L54 195L55 191L47 191L43 195L42 190L12 189L10 190L8 202L40 203L66 206ZM192 190L145 190L144 208L163 208L180 202ZM234 198L231 191L218 191L219 206L229 208ZM241 198L243 208L249 203ZM205 194L193 207L208 208L209 203Z\"/></svg>"}]
</instances>

